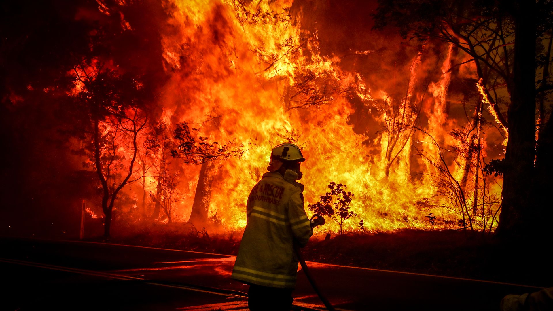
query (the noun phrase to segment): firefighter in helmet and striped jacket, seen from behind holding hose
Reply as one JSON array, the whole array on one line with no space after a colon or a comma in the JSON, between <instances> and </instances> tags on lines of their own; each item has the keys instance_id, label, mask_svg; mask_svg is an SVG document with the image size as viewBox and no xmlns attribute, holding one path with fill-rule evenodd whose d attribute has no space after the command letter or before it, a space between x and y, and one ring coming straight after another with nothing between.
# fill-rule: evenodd
<instances>
[{"instance_id":1,"label":"firefighter in helmet and striped jacket, seen from behind holding hose","mask_svg":"<svg viewBox=\"0 0 553 311\"><path fill-rule=\"evenodd\" d=\"M232 278L249 284L248 307L257 310L290 310L296 285L298 258L294 243L307 244L313 234L304 210L304 185L300 148L283 143L273 148L262 179L246 204L247 225L242 236Z\"/></svg>"}]
</instances>

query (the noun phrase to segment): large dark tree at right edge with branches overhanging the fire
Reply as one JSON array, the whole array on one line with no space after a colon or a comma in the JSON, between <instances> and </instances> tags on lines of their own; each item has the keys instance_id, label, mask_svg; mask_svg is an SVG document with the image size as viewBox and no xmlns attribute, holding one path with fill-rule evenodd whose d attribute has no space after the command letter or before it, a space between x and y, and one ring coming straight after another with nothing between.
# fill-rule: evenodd
<instances>
[{"instance_id":1,"label":"large dark tree at right edge with branches overhanging the fire","mask_svg":"<svg viewBox=\"0 0 553 311\"><path fill-rule=\"evenodd\" d=\"M545 208L553 183L553 121L545 100L553 89L551 12L551 1L382 0L375 14L378 28L393 24L404 38L443 40L471 57L489 111L508 134L498 227L507 236L544 229L532 219L553 212Z\"/></svg>"}]
</instances>

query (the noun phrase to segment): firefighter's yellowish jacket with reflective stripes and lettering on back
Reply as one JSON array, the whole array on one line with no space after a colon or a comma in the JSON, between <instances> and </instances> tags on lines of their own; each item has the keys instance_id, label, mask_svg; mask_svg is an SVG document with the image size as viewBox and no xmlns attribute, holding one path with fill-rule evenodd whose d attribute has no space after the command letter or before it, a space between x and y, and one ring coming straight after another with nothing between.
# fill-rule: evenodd
<instances>
[{"instance_id":1,"label":"firefighter's yellowish jacket with reflective stripes and lettering on back","mask_svg":"<svg viewBox=\"0 0 553 311\"><path fill-rule=\"evenodd\" d=\"M305 246L313 229L304 210L304 186L289 178L290 172L286 171L286 179L277 172L263 174L249 194L233 279L269 287L296 286L294 240Z\"/></svg>"}]
</instances>

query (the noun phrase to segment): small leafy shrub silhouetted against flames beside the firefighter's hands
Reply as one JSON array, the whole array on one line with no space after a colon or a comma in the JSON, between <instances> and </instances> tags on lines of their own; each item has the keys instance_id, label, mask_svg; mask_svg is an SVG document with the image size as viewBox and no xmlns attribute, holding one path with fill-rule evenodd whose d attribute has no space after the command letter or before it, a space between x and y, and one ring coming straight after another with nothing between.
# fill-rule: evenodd
<instances>
[{"instance_id":1,"label":"small leafy shrub silhouetted against flames beside the firefighter's hands","mask_svg":"<svg viewBox=\"0 0 553 311\"><path fill-rule=\"evenodd\" d=\"M319 195L319 202L307 206L307 208L315 214L328 216L336 221L336 224L340 226L340 234L342 234L342 225L344 221L357 215L355 212L349 210L349 203L351 203L354 194L346 191L346 188L347 185L330 182L330 184L328 184L330 192Z\"/></svg>"}]
</instances>

